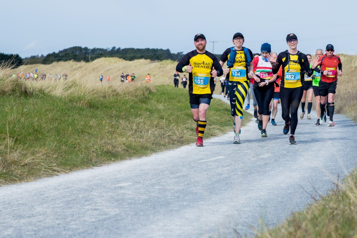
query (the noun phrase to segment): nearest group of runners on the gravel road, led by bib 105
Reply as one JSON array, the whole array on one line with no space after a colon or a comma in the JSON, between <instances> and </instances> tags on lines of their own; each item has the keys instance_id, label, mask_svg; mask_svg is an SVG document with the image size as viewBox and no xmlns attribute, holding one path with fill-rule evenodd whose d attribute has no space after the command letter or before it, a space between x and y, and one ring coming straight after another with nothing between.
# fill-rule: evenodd
<instances>
[{"instance_id":1,"label":"nearest group of runners on the gravel road, led by bib 105","mask_svg":"<svg viewBox=\"0 0 357 238\"><path fill-rule=\"evenodd\" d=\"M254 117L262 137L267 137L267 125L277 126L275 118L278 104L281 103L282 118L285 121L283 133L287 135L289 144L297 144L295 131L298 124L298 107L301 103L303 119L311 119L313 94L316 100L316 126L323 125L329 117L328 126L335 126L333 113L334 96L337 87L337 76L342 76L342 63L339 56L334 55L333 45L326 46L325 54L317 49L312 59L310 54L297 50L298 38L295 34L286 36L288 50L271 51L271 45L263 43L261 54L243 47L244 36L237 32L233 35L233 46L227 48L220 61L212 53L206 51L206 37L195 35L196 50L188 52L177 64L174 74L174 85L178 87L179 72L187 73L181 83L188 92L193 120L196 123L196 146L203 146L203 134L207 125L206 113L215 89L217 77L220 77L222 96L227 97L231 105L233 119L233 143L240 144L241 125L243 120L243 104L247 100L250 108L253 99ZM227 67L224 68L227 62ZM184 80L183 80L184 79ZM185 84L184 84L185 82Z\"/></svg>"}]
</instances>

